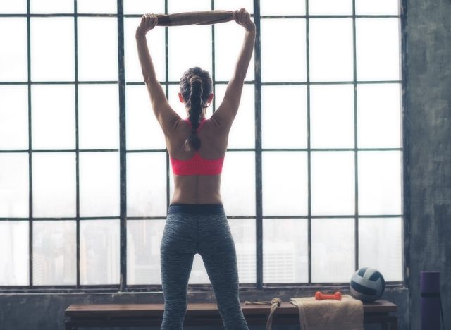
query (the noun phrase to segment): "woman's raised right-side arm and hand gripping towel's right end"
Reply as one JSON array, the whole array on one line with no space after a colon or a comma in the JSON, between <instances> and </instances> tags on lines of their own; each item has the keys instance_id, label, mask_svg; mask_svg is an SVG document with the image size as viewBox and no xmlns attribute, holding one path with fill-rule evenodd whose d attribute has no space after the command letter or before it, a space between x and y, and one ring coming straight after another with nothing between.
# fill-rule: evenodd
<instances>
[{"instance_id":1,"label":"woman's raised right-side arm and hand gripping towel's right end","mask_svg":"<svg viewBox=\"0 0 451 330\"><path fill-rule=\"evenodd\" d=\"M211 116L211 120L216 123L218 128L226 133L229 132L240 106L242 86L245 83L247 68L249 67L255 43L255 24L245 8L235 11L233 19L245 27L245 39L241 47L240 56L237 59L235 72L228 82L223 102Z\"/></svg>"}]
</instances>

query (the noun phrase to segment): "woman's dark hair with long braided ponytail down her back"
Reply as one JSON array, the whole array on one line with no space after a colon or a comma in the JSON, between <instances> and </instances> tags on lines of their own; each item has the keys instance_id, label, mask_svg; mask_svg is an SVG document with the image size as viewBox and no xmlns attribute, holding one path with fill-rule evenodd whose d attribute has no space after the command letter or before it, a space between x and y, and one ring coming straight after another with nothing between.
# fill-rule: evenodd
<instances>
[{"instance_id":1,"label":"woman's dark hair with long braided ponytail down her back","mask_svg":"<svg viewBox=\"0 0 451 330\"><path fill-rule=\"evenodd\" d=\"M213 91L213 81L206 70L198 66L190 68L180 79L180 93L189 109L191 134L185 140L186 150L199 150L201 141L197 135L197 128L201 122L202 108L206 107L207 99Z\"/></svg>"}]
</instances>

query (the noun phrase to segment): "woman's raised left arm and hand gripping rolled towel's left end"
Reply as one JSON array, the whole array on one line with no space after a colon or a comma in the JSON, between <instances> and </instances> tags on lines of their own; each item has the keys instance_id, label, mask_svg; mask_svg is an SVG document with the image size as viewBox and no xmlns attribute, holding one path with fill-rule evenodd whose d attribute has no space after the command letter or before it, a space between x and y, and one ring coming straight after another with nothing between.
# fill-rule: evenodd
<instances>
[{"instance_id":1,"label":"woman's raised left arm and hand gripping rolled towel's left end","mask_svg":"<svg viewBox=\"0 0 451 330\"><path fill-rule=\"evenodd\" d=\"M180 116L171 108L158 80L156 80L154 63L150 57L149 48L147 47L146 33L152 30L158 23L155 15L145 14L141 18L140 26L136 29L136 44L138 48L138 56L140 58L142 76L149 92L150 103L156 119L160 123L165 135L175 127L180 120Z\"/></svg>"}]
</instances>

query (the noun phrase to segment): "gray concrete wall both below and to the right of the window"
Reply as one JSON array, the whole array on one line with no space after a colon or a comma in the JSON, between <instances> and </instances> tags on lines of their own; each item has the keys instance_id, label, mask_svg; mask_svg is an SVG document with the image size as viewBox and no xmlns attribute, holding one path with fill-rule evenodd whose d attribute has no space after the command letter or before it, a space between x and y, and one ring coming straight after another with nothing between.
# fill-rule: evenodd
<instances>
[{"instance_id":1,"label":"gray concrete wall both below and to the right of the window","mask_svg":"<svg viewBox=\"0 0 451 330\"><path fill-rule=\"evenodd\" d=\"M420 328L420 271L440 271L445 324L451 329L451 1L407 0L406 92L404 145L409 160L405 198L409 202L405 232L409 290L388 289L384 298L400 306L400 329ZM307 293L242 293L242 301ZM211 295L198 295L212 301ZM190 299L190 302L196 302ZM285 300L284 299L284 300ZM63 310L71 303L162 302L161 294L0 295L0 329L63 329ZM260 330L252 327L251 330ZM274 328L275 330L281 330ZM370 328L368 328L370 329ZM193 329L188 329L193 330ZM204 329L216 330L216 329ZM284 330L298 330L296 327Z\"/></svg>"}]
</instances>

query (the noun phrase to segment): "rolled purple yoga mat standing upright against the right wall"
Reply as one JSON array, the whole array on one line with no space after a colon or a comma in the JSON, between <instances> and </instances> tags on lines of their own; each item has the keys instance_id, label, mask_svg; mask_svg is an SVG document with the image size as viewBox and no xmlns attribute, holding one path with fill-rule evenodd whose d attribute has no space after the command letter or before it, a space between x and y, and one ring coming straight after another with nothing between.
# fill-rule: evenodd
<instances>
[{"instance_id":1,"label":"rolled purple yoga mat standing upright against the right wall","mask_svg":"<svg viewBox=\"0 0 451 330\"><path fill-rule=\"evenodd\" d=\"M440 330L440 272L421 271L421 330Z\"/></svg>"}]
</instances>

